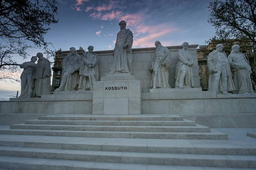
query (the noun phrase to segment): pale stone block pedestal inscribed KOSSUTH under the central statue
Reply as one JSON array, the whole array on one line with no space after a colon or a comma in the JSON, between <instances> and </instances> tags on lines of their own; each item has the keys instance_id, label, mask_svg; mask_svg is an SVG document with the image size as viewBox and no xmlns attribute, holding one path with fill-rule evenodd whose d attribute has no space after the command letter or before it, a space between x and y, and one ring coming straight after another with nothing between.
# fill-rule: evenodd
<instances>
[{"instance_id":1,"label":"pale stone block pedestal inscribed KOSSUTH under the central statue","mask_svg":"<svg viewBox=\"0 0 256 170\"><path fill-rule=\"evenodd\" d=\"M111 74L107 77L130 79L132 76ZM141 114L141 92L140 80L96 82L93 90L93 114Z\"/></svg>"}]
</instances>

